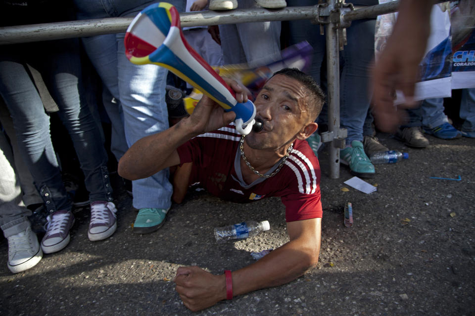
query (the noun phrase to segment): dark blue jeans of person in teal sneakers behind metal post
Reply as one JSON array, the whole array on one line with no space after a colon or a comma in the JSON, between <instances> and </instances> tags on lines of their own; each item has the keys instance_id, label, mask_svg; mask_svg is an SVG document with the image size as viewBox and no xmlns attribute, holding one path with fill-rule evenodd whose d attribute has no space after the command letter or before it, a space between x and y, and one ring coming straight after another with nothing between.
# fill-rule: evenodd
<instances>
[{"instance_id":1,"label":"dark blue jeans of person in teal sneakers behind metal post","mask_svg":"<svg viewBox=\"0 0 475 316\"><path fill-rule=\"evenodd\" d=\"M314 5L314 0L287 0L288 6ZM346 29L347 45L340 51L340 126L346 128L346 143L363 140L363 125L370 106L370 66L374 59L376 19L352 21ZM324 81L326 41L320 27L307 20L289 21L290 44L307 40L313 47L312 66L308 72L317 82ZM323 76L322 76L323 75ZM328 120L322 111L319 120Z\"/></svg>"}]
</instances>

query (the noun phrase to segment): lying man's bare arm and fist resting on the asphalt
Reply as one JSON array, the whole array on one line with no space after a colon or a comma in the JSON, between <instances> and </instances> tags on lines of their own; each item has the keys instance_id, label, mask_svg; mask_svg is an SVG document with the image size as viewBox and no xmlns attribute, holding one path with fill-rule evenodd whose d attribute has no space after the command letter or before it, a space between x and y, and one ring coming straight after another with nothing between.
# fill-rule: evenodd
<instances>
[{"instance_id":1,"label":"lying man's bare arm and fist resting on the asphalt","mask_svg":"<svg viewBox=\"0 0 475 316\"><path fill-rule=\"evenodd\" d=\"M233 296L288 283L316 265L321 224L321 218L287 223L289 242L232 273ZM191 311L226 299L225 275L216 276L198 267L180 267L175 283L183 304Z\"/></svg>"}]
</instances>

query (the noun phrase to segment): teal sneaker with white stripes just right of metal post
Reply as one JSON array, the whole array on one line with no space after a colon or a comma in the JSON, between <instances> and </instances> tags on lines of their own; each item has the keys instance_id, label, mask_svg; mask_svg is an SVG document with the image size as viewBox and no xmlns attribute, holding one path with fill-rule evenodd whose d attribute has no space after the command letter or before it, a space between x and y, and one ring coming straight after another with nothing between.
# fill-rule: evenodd
<instances>
[{"instance_id":1,"label":"teal sneaker with white stripes just right of metal post","mask_svg":"<svg viewBox=\"0 0 475 316\"><path fill-rule=\"evenodd\" d=\"M340 162L349 165L350 171L361 178L371 178L375 174L375 166L366 156L363 143L351 142L351 147L340 149Z\"/></svg>"}]
</instances>

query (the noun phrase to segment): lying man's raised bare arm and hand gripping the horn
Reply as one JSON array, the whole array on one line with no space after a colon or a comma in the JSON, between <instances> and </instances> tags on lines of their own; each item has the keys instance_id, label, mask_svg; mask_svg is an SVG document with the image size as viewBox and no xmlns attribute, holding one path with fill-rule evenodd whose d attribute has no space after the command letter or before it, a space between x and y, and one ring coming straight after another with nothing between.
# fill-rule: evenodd
<instances>
[{"instance_id":1,"label":"lying man's raised bare arm and hand gripping the horn","mask_svg":"<svg viewBox=\"0 0 475 316\"><path fill-rule=\"evenodd\" d=\"M247 101L247 95L236 81L228 80L228 84L236 92L239 103ZM133 144L120 158L117 172L125 179L137 180L177 165L180 163L177 152L180 145L194 136L228 125L235 117L234 112L224 112L221 106L203 95L190 117Z\"/></svg>"}]
</instances>

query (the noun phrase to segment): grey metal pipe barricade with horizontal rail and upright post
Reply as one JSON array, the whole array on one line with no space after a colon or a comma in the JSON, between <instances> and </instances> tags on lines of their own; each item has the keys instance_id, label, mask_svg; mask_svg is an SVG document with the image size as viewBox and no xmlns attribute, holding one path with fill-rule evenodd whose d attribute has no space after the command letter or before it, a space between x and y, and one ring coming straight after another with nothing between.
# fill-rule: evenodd
<instances>
[{"instance_id":1,"label":"grey metal pipe barricade with horizontal rail and upright post","mask_svg":"<svg viewBox=\"0 0 475 316\"><path fill-rule=\"evenodd\" d=\"M442 2L442 1L439 1ZM184 12L182 27L236 24L245 22L311 20L325 26L328 74L328 132L322 141L330 144L330 178L339 177L339 150L344 147L346 129L340 129L339 53L345 42L345 28L352 20L376 17L397 11L399 1L367 7L353 7L343 0L328 0L315 6L285 7L283 9L235 9L231 11ZM101 34L124 33L133 17L106 18L22 25L0 28L0 45L22 42L58 40Z\"/></svg>"}]
</instances>

